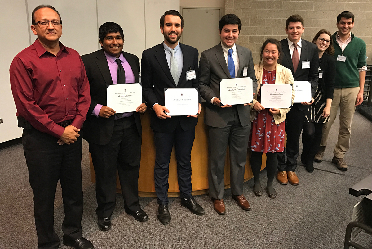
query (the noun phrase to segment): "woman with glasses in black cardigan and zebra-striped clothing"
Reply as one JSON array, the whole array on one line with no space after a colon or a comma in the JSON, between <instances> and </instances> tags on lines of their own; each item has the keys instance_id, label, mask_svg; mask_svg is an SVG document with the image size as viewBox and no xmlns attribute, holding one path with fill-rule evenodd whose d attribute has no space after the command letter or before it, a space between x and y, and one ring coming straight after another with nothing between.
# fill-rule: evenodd
<instances>
[{"instance_id":1,"label":"woman with glasses in black cardigan and zebra-striped clothing","mask_svg":"<svg viewBox=\"0 0 372 249\"><path fill-rule=\"evenodd\" d=\"M315 92L314 103L307 110L302 130L301 162L305 164L308 172L314 171L314 156L322 138L323 123L329 120L336 77L336 60L333 58L334 48L331 33L322 29L315 35L312 43L318 47L319 84Z\"/></svg>"}]
</instances>

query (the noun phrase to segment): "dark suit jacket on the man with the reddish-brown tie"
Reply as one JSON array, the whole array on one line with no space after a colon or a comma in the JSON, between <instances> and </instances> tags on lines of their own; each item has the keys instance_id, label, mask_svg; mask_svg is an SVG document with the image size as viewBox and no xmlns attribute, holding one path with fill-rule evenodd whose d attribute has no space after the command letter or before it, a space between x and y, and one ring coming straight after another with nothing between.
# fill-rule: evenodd
<instances>
[{"instance_id":1,"label":"dark suit jacket on the man with the reddish-brown tie","mask_svg":"<svg viewBox=\"0 0 372 249\"><path fill-rule=\"evenodd\" d=\"M298 67L295 73L287 38L281 40L280 44L282 44L283 50L283 55L280 55L282 57L282 65L288 69L291 69L295 81L310 81L311 96L314 97L319 81L319 61L317 45L302 39L301 56L299 58ZM310 61L310 68L302 68L302 61L304 60ZM295 103L293 106L297 107L299 110L305 110L310 107L310 105L302 105L301 103Z\"/></svg>"}]
</instances>

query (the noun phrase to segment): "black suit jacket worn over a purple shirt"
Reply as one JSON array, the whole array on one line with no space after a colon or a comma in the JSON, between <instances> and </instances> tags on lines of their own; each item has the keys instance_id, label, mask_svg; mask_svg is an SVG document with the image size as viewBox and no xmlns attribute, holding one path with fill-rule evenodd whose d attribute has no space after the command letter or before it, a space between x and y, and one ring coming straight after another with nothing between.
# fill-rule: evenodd
<instances>
[{"instance_id":1,"label":"black suit jacket worn over a purple shirt","mask_svg":"<svg viewBox=\"0 0 372 249\"><path fill-rule=\"evenodd\" d=\"M139 82L140 60L134 54L122 52ZM83 138L94 144L105 145L111 139L115 115L108 119L96 117L92 112L97 104L107 105L106 84L112 84L111 73L103 49L81 56L90 85L90 107L83 124ZM138 133L142 134L140 114L134 112Z\"/></svg>"}]
</instances>

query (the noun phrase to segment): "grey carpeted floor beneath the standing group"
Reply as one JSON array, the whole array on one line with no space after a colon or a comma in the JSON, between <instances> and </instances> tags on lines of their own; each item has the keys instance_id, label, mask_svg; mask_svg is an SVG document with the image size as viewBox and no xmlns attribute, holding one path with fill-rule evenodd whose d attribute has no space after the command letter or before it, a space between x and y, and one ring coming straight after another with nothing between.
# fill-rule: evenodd
<instances>
[{"instance_id":1,"label":"grey carpeted floor beneath the standing group","mask_svg":"<svg viewBox=\"0 0 372 249\"><path fill-rule=\"evenodd\" d=\"M88 144L83 148L84 214L83 236L97 249L320 249L343 248L347 223L352 218L353 206L362 197L349 195L349 187L372 174L372 123L355 114L350 150L345 161L346 172L337 170L331 159L338 133L338 121L332 127L324 161L316 163L308 173L301 163L296 170L298 186L274 182L276 199L266 194L255 196L253 179L244 183L244 195L251 211L240 209L232 200L230 189L225 190L226 214L218 215L208 195L196 196L205 209L204 216L196 216L180 206L179 198L170 198L171 223L163 226L157 220L155 198L140 198L141 207L150 220L135 221L124 212L121 195L117 195L112 215L112 228L102 232L96 225L94 183L90 182ZM301 154L301 152L300 152ZM22 145L0 151L0 249L29 249L37 247L33 220L32 190ZM261 173L262 185L266 171ZM55 198L55 231L62 237L63 206L61 188ZM372 236L359 234L357 242L372 248ZM68 249L61 243L60 248Z\"/></svg>"}]
</instances>

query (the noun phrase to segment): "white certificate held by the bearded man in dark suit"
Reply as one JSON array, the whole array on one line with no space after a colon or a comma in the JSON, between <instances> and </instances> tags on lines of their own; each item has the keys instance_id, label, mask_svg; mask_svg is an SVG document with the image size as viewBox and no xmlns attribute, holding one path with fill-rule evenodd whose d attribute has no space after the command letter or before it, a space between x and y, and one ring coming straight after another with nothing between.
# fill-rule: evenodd
<instances>
[{"instance_id":1,"label":"white certificate held by the bearded man in dark suit","mask_svg":"<svg viewBox=\"0 0 372 249\"><path fill-rule=\"evenodd\" d=\"M199 92L197 88L165 88L165 107L169 116L198 115Z\"/></svg>"}]
</instances>

